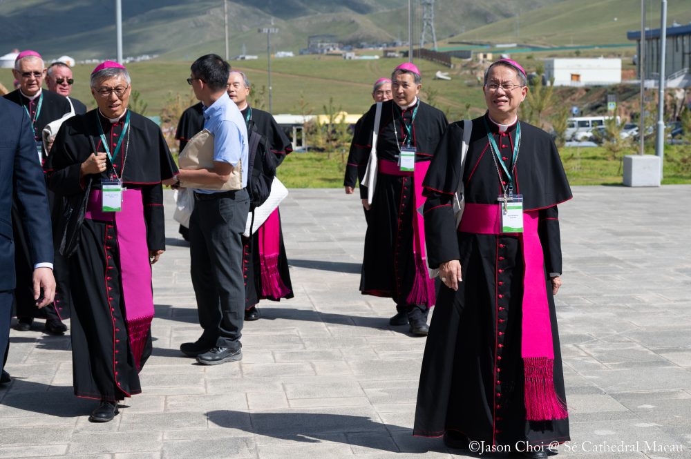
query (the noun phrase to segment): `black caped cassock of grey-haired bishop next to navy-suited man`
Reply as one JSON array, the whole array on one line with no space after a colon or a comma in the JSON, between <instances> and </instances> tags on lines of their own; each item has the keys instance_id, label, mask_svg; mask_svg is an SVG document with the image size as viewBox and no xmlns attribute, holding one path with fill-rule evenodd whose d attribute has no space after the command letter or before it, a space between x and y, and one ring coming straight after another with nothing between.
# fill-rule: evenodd
<instances>
[{"instance_id":1,"label":"black caped cassock of grey-haired bishop next to navy-suited man","mask_svg":"<svg viewBox=\"0 0 691 459\"><path fill-rule=\"evenodd\" d=\"M92 196L95 190L100 190L102 179L115 170L122 174L126 193L133 192L141 201L136 203L141 208L135 222L139 225L136 232L134 226L118 226L117 219L115 222L100 219L97 212L87 216L79 229L77 250L68 259L75 300L71 318L75 395L101 400L122 400L141 392L138 373L151 355L153 298L143 306L138 305L150 311L150 315L138 321L126 312L136 311L130 307L135 302L126 304L125 299L135 277L139 287L144 284L140 291L151 294L148 253L146 260L138 264L136 276L127 274L124 266L135 258L142 260L141 252L164 250L161 182L178 172L161 130L153 121L131 113L129 130L123 136L124 119L111 124L98 110L68 119L59 130L45 166L48 185L57 197L84 195L87 177L80 179L79 169L93 152L89 139L99 152L105 151L99 135L100 122L111 154L115 153L117 140L122 137L123 141L112 167L108 162L106 173L88 176L93 179ZM124 173L120 173L123 168ZM127 204L126 197L123 207ZM60 221L53 222L54 229L60 224ZM59 231L55 233L59 246L61 235ZM126 233L143 249L135 253L122 248L121 235Z\"/></svg>"}]
</instances>

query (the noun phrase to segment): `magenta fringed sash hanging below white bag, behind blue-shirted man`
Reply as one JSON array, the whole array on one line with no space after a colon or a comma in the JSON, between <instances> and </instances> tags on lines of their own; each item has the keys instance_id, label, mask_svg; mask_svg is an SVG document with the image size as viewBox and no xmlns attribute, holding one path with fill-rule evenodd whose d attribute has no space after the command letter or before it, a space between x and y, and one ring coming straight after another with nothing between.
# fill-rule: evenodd
<instances>
[{"instance_id":1,"label":"magenta fringed sash hanging below white bag, behind blue-shirted man","mask_svg":"<svg viewBox=\"0 0 691 459\"><path fill-rule=\"evenodd\" d=\"M261 265L261 295L271 300L280 300L290 293L278 271L278 253L281 244L281 218L278 207L266 222L257 230L259 237L258 251Z\"/></svg>"}]
</instances>

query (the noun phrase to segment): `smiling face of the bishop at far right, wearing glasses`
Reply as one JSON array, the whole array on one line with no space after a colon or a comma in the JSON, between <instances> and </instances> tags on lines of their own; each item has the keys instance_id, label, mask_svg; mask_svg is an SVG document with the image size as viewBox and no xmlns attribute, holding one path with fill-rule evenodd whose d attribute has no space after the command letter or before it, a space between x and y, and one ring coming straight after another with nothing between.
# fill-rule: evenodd
<instances>
[{"instance_id":1,"label":"smiling face of the bishop at far right, wearing glasses","mask_svg":"<svg viewBox=\"0 0 691 459\"><path fill-rule=\"evenodd\" d=\"M500 85L493 89L491 85ZM502 86L513 85L513 89L505 90ZM484 101L489 110L489 116L495 121L511 121L518 113L518 106L528 93L527 86L518 87L520 80L518 73L511 67L494 66L487 75L487 84L482 88Z\"/></svg>"}]
</instances>

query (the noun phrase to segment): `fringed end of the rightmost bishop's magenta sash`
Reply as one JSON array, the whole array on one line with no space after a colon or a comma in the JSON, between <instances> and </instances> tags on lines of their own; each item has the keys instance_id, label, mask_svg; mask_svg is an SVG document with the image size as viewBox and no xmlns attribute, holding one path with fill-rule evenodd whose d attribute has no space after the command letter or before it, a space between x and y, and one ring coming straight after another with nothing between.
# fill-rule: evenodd
<instances>
[{"instance_id":1,"label":"fringed end of the rightmost bishop's magenta sash","mask_svg":"<svg viewBox=\"0 0 691 459\"><path fill-rule=\"evenodd\" d=\"M554 391L554 360L524 358L526 420L544 421L569 416L566 404Z\"/></svg>"}]
</instances>

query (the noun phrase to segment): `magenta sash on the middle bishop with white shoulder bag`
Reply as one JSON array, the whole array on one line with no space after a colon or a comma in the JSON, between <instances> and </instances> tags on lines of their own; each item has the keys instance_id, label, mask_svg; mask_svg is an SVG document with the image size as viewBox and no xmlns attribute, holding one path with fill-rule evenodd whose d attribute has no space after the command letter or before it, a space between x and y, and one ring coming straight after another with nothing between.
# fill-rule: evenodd
<instances>
[{"instance_id":1,"label":"magenta sash on the middle bishop with white shoulder bag","mask_svg":"<svg viewBox=\"0 0 691 459\"><path fill-rule=\"evenodd\" d=\"M434 306L437 298L434 290L434 280L427 271L427 251L425 248L425 222L422 213L417 211L424 206L426 197L422 195L422 181L427 174L430 162L416 162L415 172L406 172L398 164L386 159L379 159L379 173L413 177L413 254L415 255L415 280L413 287L406 297L408 304L426 304L428 308Z\"/></svg>"}]
</instances>

